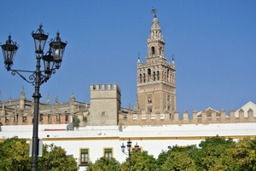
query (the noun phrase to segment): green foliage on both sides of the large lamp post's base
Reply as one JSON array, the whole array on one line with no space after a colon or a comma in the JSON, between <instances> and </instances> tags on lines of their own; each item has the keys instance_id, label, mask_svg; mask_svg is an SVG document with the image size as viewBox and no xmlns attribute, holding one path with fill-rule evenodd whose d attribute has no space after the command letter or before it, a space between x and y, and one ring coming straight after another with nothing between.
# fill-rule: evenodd
<instances>
[{"instance_id":1,"label":"green foliage on both sides of the large lamp post's base","mask_svg":"<svg viewBox=\"0 0 256 171\"><path fill-rule=\"evenodd\" d=\"M29 144L14 137L0 142L0 170L30 170ZM38 157L38 171L77 171L77 162L60 146L43 145L43 157Z\"/></svg>"}]
</instances>

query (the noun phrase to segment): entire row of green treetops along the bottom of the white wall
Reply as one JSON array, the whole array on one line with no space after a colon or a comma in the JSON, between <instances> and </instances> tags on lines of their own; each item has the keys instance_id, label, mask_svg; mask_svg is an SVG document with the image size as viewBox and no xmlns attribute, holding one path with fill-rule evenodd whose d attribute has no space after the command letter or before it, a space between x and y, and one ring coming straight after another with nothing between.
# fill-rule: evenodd
<instances>
[{"instance_id":1,"label":"entire row of green treetops along the bottom of the white wall","mask_svg":"<svg viewBox=\"0 0 256 171\"><path fill-rule=\"evenodd\" d=\"M0 170L30 169L29 144L14 137L0 142ZM90 162L87 171L128 171L129 157L120 163L115 158L101 157ZM43 157L38 157L39 171L77 171L78 163L60 146L43 145ZM197 145L173 145L161 151L155 159L147 151L131 153L131 171L253 171L256 170L256 139L234 141L212 137Z\"/></svg>"}]
</instances>

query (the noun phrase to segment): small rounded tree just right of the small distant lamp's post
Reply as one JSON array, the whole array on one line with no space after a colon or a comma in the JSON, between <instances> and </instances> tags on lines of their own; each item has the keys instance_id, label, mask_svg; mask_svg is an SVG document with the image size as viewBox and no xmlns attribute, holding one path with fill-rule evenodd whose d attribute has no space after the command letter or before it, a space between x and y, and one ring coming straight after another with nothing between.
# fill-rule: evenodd
<instances>
[{"instance_id":1,"label":"small rounded tree just right of the small distant lamp's post","mask_svg":"<svg viewBox=\"0 0 256 171\"><path fill-rule=\"evenodd\" d=\"M122 171L129 170L129 158L122 163ZM148 155L148 151L131 152L131 170L132 171L152 171L157 170L156 160L152 155Z\"/></svg>"}]
</instances>

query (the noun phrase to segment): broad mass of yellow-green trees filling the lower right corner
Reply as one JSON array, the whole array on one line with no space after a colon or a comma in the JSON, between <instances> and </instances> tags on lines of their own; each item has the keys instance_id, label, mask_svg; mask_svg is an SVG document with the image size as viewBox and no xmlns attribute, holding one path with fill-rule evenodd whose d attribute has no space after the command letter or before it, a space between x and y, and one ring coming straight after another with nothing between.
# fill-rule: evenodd
<instances>
[{"instance_id":1,"label":"broad mass of yellow-green trees filling the lower right corner","mask_svg":"<svg viewBox=\"0 0 256 171\"><path fill-rule=\"evenodd\" d=\"M201 141L199 148L175 145L169 151L162 151L157 163L162 171L253 171L256 170L256 140L235 142L216 136Z\"/></svg>"}]
</instances>

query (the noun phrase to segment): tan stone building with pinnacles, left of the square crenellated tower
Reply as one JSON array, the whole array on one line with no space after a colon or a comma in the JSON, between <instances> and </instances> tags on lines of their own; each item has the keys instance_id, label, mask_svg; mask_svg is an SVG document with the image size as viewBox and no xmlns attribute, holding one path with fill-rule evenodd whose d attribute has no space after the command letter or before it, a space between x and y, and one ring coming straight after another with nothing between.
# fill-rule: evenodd
<instances>
[{"instance_id":1,"label":"tan stone building with pinnacles, left of the square crenellated tower","mask_svg":"<svg viewBox=\"0 0 256 171\"><path fill-rule=\"evenodd\" d=\"M69 124L73 122L73 116L81 119L89 112L89 105L75 100L74 95L65 103L59 103L58 97L55 104L40 102L39 124ZM20 93L20 99L0 101L1 125L32 125L34 101L27 100L24 88Z\"/></svg>"}]
</instances>

